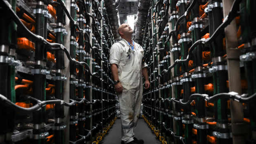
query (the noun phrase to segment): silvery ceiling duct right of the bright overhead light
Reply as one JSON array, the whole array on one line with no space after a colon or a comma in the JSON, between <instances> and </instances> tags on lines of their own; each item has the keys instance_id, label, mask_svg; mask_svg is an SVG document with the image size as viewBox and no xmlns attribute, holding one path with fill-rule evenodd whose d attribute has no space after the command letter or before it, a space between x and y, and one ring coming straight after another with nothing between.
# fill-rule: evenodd
<instances>
[{"instance_id":1,"label":"silvery ceiling duct right of the bright overhead light","mask_svg":"<svg viewBox=\"0 0 256 144\"><path fill-rule=\"evenodd\" d=\"M148 0L139 0L138 4L138 12L137 12L137 19L136 19L136 31L135 31L135 42L142 44L142 29L145 26L145 22L147 19L149 9L149 2Z\"/></svg>"}]
</instances>

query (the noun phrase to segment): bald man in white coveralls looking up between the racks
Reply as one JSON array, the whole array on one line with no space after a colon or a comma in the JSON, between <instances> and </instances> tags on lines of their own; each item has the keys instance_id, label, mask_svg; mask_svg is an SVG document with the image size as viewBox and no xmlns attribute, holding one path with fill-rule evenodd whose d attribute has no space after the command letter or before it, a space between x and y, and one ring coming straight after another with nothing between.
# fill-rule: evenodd
<instances>
[{"instance_id":1,"label":"bald man in white coveralls looking up between the racks","mask_svg":"<svg viewBox=\"0 0 256 144\"><path fill-rule=\"evenodd\" d=\"M144 144L143 140L135 138L134 129L140 116L142 75L145 88L150 85L147 64L142 62L142 47L131 39L133 30L130 26L122 24L118 30L122 40L112 45L109 61L120 103L121 144Z\"/></svg>"}]
</instances>

